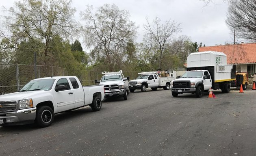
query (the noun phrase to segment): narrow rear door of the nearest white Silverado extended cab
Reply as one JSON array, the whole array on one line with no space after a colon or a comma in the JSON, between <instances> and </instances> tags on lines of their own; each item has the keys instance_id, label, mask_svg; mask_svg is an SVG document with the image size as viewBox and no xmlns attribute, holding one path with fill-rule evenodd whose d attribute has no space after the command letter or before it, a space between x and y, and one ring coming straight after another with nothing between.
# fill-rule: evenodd
<instances>
[{"instance_id":1,"label":"narrow rear door of the nearest white Silverado extended cab","mask_svg":"<svg viewBox=\"0 0 256 156\"><path fill-rule=\"evenodd\" d=\"M73 94L75 96L75 108L81 107L85 104L85 93L82 87L79 87L78 82L75 78L69 78L72 87L73 87Z\"/></svg>"}]
</instances>

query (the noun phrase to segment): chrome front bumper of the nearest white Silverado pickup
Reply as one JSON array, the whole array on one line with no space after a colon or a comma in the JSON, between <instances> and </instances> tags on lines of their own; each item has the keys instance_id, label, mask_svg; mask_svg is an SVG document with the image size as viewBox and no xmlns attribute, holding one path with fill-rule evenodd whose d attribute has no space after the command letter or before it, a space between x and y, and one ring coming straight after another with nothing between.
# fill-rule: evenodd
<instances>
[{"instance_id":1,"label":"chrome front bumper of the nearest white Silverado pickup","mask_svg":"<svg viewBox=\"0 0 256 156\"><path fill-rule=\"evenodd\" d=\"M22 123L32 123L36 118L37 108L27 108L18 110L15 112L5 112L0 113L0 119L3 119L4 124L1 125L13 125L13 124L22 124Z\"/></svg>"}]
</instances>

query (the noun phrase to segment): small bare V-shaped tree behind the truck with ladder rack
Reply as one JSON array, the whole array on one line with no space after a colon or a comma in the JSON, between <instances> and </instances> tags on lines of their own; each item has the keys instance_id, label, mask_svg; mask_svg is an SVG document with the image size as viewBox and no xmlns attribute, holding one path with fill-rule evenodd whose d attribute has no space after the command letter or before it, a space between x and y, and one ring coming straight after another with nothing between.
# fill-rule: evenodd
<instances>
[{"instance_id":1,"label":"small bare V-shaped tree behind the truck with ladder rack","mask_svg":"<svg viewBox=\"0 0 256 156\"><path fill-rule=\"evenodd\" d=\"M146 18L147 24L144 25L146 30L146 40L152 40L152 44L156 45L157 52L159 52L159 69L162 69L162 56L163 50L165 48L165 43L167 43L171 36L174 33L180 32L181 29L179 28L181 24L177 24L175 21L169 20L166 21L164 24L161 24L160 18L156 17L153 20L153 23L150 24L148 17Z\"/></svg>"}]
</instances>

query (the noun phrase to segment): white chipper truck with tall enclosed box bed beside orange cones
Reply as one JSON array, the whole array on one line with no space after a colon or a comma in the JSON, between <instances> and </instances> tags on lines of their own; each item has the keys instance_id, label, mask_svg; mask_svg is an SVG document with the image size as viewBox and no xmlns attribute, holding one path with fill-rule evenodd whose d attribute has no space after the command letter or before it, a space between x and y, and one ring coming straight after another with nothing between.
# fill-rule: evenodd
<instances>
[{"instance_id":1,"label":"white chipper truck with tall enclosed box bed beside orange cones","mask_svg":"<svg viewBox=\"0 0 256 156\"><path fill-rule=\"evenodd\" d=\"M230 83L236 79L236 66L227 65L223 52L194 52L187 57L187 72L171 82L171 94L195 93L202 97L204 91L221 89L230 92Z\"/></svg>"}]
</instances>

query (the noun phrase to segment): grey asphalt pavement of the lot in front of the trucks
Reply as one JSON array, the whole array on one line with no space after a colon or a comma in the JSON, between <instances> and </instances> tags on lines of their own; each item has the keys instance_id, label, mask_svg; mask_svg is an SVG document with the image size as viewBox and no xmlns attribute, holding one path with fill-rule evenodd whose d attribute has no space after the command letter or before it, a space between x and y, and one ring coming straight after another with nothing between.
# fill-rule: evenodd
<instances>
[{"instance_id":1,"label":"grey asphalt pavement of the lot in front of the trucks","mask_svg":"<svg viewBox=\"0 0 256 156\"><path fill-rule=\"evenodd\" d=\"M135 91L98 112L57 114L50 127L0 127L0 155L255 156L256 90L213 92L214 99Z\"/></svg>"}]
</instances>

